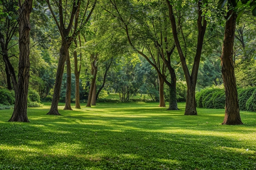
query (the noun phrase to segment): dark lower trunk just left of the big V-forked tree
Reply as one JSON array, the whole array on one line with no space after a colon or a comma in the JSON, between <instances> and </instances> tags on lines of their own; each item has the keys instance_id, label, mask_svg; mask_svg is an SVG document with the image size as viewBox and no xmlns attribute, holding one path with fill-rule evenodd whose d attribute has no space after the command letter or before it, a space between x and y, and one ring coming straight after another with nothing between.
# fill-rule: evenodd
<instances>
[{"instance_id":1,"label":"dark lower trunk just left of the big V-forked tree","mask_svg":"<svg viewBox=\"0 0 256 170\"><path fill-rule=\"evenodd\" d=\"M169 108L167 110L179 110L177 106L177 95L176 95L176 74L173 68L169 68L171 74L171 85L169 86Z\"/></svg>"}]
</instances>

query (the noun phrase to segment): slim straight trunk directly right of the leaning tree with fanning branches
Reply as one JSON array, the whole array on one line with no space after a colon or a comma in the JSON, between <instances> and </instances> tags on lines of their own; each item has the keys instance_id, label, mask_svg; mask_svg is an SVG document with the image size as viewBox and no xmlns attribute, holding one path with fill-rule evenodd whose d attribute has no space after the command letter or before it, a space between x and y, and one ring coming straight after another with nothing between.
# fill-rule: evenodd
<instances>
[{"instance_id":1,"label":"slim straight trunk directly right of the leaning tree with fanning branches","mask_svg":"<svg viewBox=\"0 0 256 170\"><path fill-rule=\"evenodd\" d=\"M67 50L66 66L67 66L67 85L66 85L66 97L65 97L64 110L72 110L71 108L71 65L70 65L70 55L68 50Z\"/></svg>"}]
</instances>

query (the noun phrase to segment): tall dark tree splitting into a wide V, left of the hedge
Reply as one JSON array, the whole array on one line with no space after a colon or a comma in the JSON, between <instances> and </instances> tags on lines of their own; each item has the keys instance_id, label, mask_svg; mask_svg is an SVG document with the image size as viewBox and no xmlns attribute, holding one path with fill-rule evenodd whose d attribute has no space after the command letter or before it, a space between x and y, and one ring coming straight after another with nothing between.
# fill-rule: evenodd
<instances>
[{"instance_id":1,"label":"tall dark tree splitting into a wide V, left of the hedge","mask_svg":"<svg viewBox=\"0 0 256 170\"><path fill-rule=\"evenodd\" d=\"M173 13L173 4L169 0L166 0L166 3L168 5L169 10L169 18L171 20L171 26L172 26L172 33L173 38L177 47L177 51L180 55L180 60L182 62L182 68L185 74L186 78L186 84L187 84L187 95L186 95L186 108L185 108L185 115L197 115L196 111L196 102L195 102L195 86L196 86L196 80L198 75L198 68L200 64L200 58L202 53L202 45L204 40L204 33L206 31L207 22L202 15L202 0L198 0L197 8L198 8L198 18L197 18L197 26L198 26L198 37L197 37L197 47L196 47L196 53L194 57L193 62L193 68L191 71L191 74L189 73L189 68L186 63L186 56L184 55L180 40L177 35L177 25L175 21L175 15Z\"/></svg>"}]
</instances>

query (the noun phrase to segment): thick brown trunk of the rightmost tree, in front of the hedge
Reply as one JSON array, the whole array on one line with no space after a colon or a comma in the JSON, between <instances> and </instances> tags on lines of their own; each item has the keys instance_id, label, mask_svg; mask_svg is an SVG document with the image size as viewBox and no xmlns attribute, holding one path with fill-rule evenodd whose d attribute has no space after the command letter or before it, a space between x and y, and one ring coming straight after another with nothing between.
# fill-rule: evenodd
<instances>
[{"instance_id":1,"label":"thick brown trunk of the rightmost tree, in front of the hedge","mask_svg":"<svg viewBox=\"0 0 256 170\"><path fill-rule=\"evenodd\" d=\"M225 125L239 125L243 124L240 118L238 94L236 88L236 77L233 63L233 46L234 36L236 30L236 14L229 10L227 13L227 20L225 26L224 41L221 55L221 72L225 87L226 105L225 118L222 124Z\"/></svg>"}]
</instances>

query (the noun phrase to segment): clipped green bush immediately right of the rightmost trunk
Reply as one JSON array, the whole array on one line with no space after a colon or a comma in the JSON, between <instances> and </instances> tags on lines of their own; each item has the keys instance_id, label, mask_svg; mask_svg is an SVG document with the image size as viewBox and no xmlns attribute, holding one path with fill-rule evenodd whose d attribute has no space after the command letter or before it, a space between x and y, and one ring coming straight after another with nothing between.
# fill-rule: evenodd
<instances>
[{"instance_id":1,"label":"clipped green bush immediately right of the rightmost trunk","mask_svg":"<svg viewBox=\"0 0 256 170\"><path fill-rule=\"evenodd\" d=\"M247 110L247 100L252 96L252 93L256 90L255 87L240 88L238 89L238 101L240 110Z\"/></svg>"}]
</instances>

